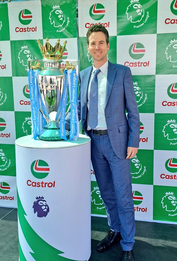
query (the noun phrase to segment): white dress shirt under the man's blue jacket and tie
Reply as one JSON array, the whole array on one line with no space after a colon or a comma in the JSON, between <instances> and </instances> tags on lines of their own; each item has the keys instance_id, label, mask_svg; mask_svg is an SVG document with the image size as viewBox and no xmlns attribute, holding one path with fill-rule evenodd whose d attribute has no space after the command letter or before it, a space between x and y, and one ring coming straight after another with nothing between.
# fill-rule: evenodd
<instances>
[{"instance_id":1,"label":"white dress shirt under the man's blue jacket and tie","mask_svg":"<svg viewBox=\"0 0 177 261\"><path fill-rule=\"evenodd\" d=\"M107 84L107 75L108 75L108 60L103 64L100 68L101 72L98 73L98 125L95 127L96 130L106 130L106 119L104 114L105 109L105 98L106 98L106 84ZM89 118L89 100L90 100L90 87L91 81L94 76L94 72L97 68L94 67L92 69L92 74L90 77L90 82L88 85L88 92L87 92L87 108L88 108L88 115L87 115L87 131L90 130L90 126L88 125L88 118Z\"/></svg>"}]
</instances>

